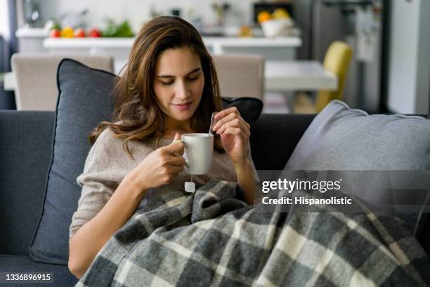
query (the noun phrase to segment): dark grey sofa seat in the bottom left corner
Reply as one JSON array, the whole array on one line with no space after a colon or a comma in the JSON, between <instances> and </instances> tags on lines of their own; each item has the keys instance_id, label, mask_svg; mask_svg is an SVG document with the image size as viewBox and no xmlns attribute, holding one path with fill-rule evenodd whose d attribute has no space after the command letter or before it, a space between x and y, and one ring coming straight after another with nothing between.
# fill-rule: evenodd
<instances>
[{"instance_id":1,"label":"dark grey sofa seat in the bottom left corner","mask_svg":"<svg viewBox=\"0 0 430 287\"><path fill-rule=\"evenodd\" d=\"M34 262L29 256L0 255L0 270L8 273L50 272L53 282L44 284L25 283L25 287L74 286L78 279L70 273L67 266ZM0 283L0 286L18 286L13 283Z\"/></svg>"}]
</instances>

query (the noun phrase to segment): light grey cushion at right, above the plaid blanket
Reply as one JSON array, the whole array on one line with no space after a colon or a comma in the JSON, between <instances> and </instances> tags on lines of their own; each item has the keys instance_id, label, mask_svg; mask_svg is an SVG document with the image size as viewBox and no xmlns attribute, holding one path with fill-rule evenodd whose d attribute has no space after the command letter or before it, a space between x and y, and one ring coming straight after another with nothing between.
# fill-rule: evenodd
<instances>
[{"instance_id":1,"label":"light grey cushion at right, above the plaid blanket","mask_svg":"<svg viewBox=\"0 0 430 287\"><path fill-rule=\"evenodd\" d=\"M285 170L332 171L342 177L342 190L384 205L418 236L430 204L430 120L368 115L332 101L306 129ZM407 200L416 206L403 206Z\"/></svg>"}]
</instances>

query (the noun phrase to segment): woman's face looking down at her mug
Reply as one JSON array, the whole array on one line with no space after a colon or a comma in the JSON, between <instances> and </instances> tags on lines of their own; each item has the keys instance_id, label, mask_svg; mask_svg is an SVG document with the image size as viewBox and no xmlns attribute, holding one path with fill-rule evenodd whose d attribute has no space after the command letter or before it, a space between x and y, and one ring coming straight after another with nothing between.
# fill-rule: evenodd
<instances>
[{"instance_id":1,"label":"woman's face looking down at her mug","mask_svg":"<svg viewBox=\"0 0 430 287\"><path fill-rule=\"evenodd\" d=\"M188 124L199 106L203 87L202 65L193 50L188 47L167 49L158 56L154 91L168 122Z\"/></svg>"}]
</instances>

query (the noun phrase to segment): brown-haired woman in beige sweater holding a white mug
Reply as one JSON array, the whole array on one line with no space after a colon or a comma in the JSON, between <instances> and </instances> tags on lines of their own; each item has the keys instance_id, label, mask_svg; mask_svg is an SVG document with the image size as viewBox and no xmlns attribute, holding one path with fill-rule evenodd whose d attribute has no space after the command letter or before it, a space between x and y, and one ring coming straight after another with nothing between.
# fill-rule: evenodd
<instances>
[{"instance_id":1,"label":"brown-haired woman in beige sweater holding a white mug","mask_svg":"<svg viewBox=\"0 0 430 287\"><path fill-rule=\"evenodd\" d=\"M101 122L89 136L93 146L77 178L82 196L70 225L69 269L78 278L145 196L183 191L190 175L183 168L183 143L176 140L208 132L214 111L211 169L194 181L237 181L245 201L254 198L249 125L236 108L221 110L214 62L192 25L171 16L146 23L114 95L113 121Z\"/></svg>"}]
</instances>

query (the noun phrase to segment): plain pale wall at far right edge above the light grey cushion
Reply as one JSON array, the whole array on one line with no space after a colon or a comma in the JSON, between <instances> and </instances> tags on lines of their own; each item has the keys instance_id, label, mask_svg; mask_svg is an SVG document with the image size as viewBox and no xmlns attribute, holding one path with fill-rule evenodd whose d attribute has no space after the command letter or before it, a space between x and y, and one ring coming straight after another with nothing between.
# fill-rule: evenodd
<instances>
[{"instance_id":1,"label":"plain pale wall at far right edge above the light grey cushion","mask_svg":"<svg viewBox=\"0 0 430 287\"><path fill-rule=\"evenodd\" d=\"M391 8L389 109L429 113L429 0L396 0Z\"/></svg>"}]
</instances>

